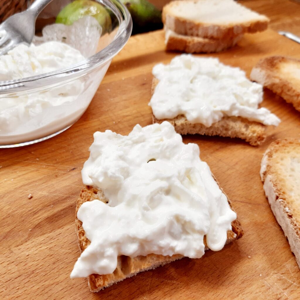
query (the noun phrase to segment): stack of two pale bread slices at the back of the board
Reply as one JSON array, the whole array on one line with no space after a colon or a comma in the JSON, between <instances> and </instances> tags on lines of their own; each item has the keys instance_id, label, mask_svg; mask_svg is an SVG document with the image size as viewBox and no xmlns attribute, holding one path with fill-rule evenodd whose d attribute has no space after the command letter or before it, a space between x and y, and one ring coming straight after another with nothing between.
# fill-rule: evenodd
<instances>
[{"instance_id":1,"label":"stack of two pale bread slices at the back of the board","mask_svg":"<svg viewBox=\"0 0 300 300\"><path fill-rule=\"evenodd\" d=\"M269 19L234 0L172 1L163 8L167 50L220 52L244 33L263 31Z\"/></svg>"}]
</instances>

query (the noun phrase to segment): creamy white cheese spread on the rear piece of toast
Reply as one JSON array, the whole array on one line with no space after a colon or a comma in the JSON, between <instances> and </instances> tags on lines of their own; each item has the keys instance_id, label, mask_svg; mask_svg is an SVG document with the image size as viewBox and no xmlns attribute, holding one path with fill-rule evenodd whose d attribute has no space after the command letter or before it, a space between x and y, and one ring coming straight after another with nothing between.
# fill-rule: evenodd
<instances>
[{"instance_id":1,"label":"creamy white cheese spread on the rear piece of toast","mask_svg":"<svg viewBox=\"0 0 300 300\"><path fill-rule=\"evenodd\" d=\"M159 80L149 105L157 119L173 119L183 114L190 123L207 127L223 116L240 116L264 125L280 119L262 102L262 85L247 79L237 67L226 66L217 58L182 54L170 64L158 64L153 75Z\"/></svg>"}]
</instances>

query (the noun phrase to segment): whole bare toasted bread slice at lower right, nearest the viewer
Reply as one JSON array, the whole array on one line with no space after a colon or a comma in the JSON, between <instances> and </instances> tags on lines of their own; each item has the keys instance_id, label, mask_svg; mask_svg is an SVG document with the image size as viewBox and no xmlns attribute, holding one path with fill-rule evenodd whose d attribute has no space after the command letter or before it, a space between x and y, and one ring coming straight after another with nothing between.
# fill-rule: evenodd
<instances>
[{"instance_id":1,"label":"whole bare toasted bread slice at lower right, nearest the viewer","mask_svg":"<svg viewBox=\"0 0 300 300\"><path fill-rule=\"evenodd\" d=\"M300 267L300 140L270 144L261 163L265 195Z\"/></svg>"}]
</instances>

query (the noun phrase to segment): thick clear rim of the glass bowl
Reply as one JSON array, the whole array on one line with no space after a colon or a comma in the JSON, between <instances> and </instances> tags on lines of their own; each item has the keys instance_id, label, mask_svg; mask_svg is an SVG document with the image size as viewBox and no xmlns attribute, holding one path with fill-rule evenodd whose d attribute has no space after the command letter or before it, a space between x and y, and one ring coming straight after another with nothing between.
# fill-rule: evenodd
<instances>
[{"instance_id":1,"label":"thick clear rim of the glass bowl","mask_svg":"<svg viewBox=\"0 0 300 300\"><path fill-rule=\"evenodd\" d=\"M65 81L80 78L111 60L127 43L132 31L132 19L128 9L118 0L95 0L113 11L119 20L119 28L113 41L94 55L67 68L35 76L0 81L0 98L11 93L39 90L48 85L60 85ZM23 94L23 93L22 93Z\"/></svg>"}]
</instances>

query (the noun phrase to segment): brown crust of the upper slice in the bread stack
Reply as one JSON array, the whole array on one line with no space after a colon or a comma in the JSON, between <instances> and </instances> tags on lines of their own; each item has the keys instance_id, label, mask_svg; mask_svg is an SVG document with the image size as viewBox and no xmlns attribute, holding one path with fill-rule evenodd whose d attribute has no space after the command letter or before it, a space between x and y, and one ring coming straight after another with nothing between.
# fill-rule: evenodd
<instances>
[{"instance_id":1,"label":"brown crust of the upper slice in the bread stack","mask_svg":"<svg viewBox=\"0 0 300 300\"><path fill-rule=\"evenodd\" d=\"M169 29L180 35L198 36L202 38L232 38L236 35L244 33L255 33L264 31L268 27L270 20L261 15L260 19L253 19L249 22L235 23L232 22L226 25L215 25L203 22L191 21L182 17L172 15L170 8L181 4L181 1L172 1L165 5L162 11L162 19ZM194 0L184 0L194 2Z\"/></svg>"}]
</instances>

